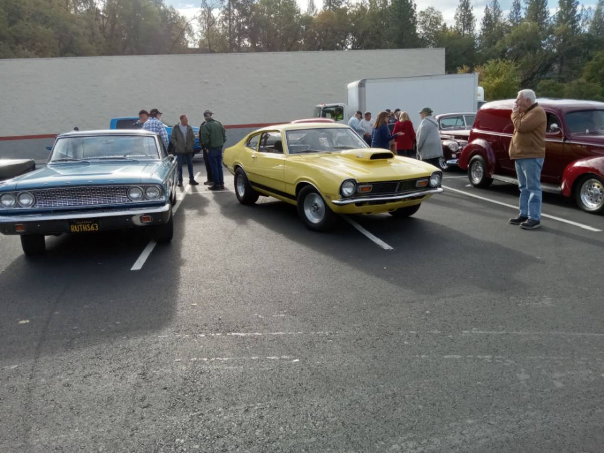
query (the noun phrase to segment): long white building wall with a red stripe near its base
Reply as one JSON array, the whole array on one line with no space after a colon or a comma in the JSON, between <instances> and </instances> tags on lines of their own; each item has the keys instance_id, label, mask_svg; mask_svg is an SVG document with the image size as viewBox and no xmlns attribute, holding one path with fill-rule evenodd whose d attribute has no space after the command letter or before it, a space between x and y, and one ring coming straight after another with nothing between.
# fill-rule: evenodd
<instances>
[{"instance_id":1,"label":"long white building wall with a red stripe near its base","mask_svg":"<svg viewBox=\"0 0 604 453\"><path fill-rule=\"evenodd\" d=\"M106 129L141 108L170 124L187 113L197 125L205 109L223 124L277 123L345 102L353 80L438 74L444 49L0 60L0 138Z\"/></svg>"}]
</instances>

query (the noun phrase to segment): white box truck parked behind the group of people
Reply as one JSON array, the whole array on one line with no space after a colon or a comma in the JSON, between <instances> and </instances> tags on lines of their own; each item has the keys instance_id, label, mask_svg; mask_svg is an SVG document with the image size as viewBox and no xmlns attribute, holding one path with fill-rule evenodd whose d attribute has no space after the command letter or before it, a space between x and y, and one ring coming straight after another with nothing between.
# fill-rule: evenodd
<instances>
[{"instance_id":1,"label":"white box truck parked behind the group of people","mask_svg":"<svg viewBox=\"0 0 604 453\"><path fill-rule=\"evenodd\" d=\"M348 103L318 104L313 117L347 123L356 111L371 112L375 119L379 111L398 108L408 112L417 128L417 112L424 107L434 115L475 112L484 99L481 88L478 74L361 79L348 84Z\"/></svg>"}]
</instances>

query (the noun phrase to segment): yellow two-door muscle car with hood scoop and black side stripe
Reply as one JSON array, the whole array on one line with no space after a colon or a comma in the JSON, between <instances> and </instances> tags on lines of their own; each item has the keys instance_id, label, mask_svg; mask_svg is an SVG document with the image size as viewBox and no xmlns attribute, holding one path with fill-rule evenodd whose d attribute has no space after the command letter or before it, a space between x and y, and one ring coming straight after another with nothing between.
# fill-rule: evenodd
<instances>
[{"instance_id":1,"label":"yellow two-door muscle car with hood scoop and black side stripe","mask_svg":"<svg viewBox=\"0 0 604 453\"><path fill-rule=\"evenodd\" d=\"M242 204L272 196L297 205L311 230L327 230L335 214L408 217L442 192L434 165L367 146L344 124L280 124L255 130L225 150Z\"/></svg>"}]
</instances>

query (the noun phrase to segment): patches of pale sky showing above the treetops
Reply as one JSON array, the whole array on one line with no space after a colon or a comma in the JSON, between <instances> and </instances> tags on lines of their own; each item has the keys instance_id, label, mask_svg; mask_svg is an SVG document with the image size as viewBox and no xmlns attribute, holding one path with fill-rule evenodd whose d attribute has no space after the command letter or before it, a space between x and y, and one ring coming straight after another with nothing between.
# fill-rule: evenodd
<instances>
[{"instance_id":1,"label":"patches of pale sky showing above the treetops","mask_svg":"<svg viewBox=\"0 0 604 453\"><path fill-rule=\"evenodd\" d=\"M195 3L195 2L186 1L186 0L164 0L164 1L166 4L172 5L173 7L178 9L181 12L181 14L184 14L184 16L186 16L188 18L192 18L193 16L195 16L198 13L199 4L201 4L201 2ZM300 8L302 8L302 10L305 10L307 0L297 0L297 1L298 1L298 4L300 4ZM474 14L477 17L477 28L480 27L480 20L483 17L484 5L489 3L489 1L490 0L477 0L477 1L472 2L472 5L474 6ZM597 0L588 0L586 2L583 2L582 4L585 4L586 7L587 6L595 7L596 1ZM452 22L453 22L453 16L455 14L455 8L457 8L458 2L459 2L458 0L439 0L439 1L416 0L418 11L421 11L429 6L433 6L433 7L437 8L437 10L440 10L443 13L443 16L445 17L445 21L448 24L452 24ZM320 8L322 4L323 4L323 0L315 0L316 7ZM500 0L500 4L501 4L501 8L503 8L503 10L506 11L506 14L507 14L507 11L509 10L510 5L512 5L512 0ZM522 4L524 4L524 0L522 0ZM549 5L550 5L550 11L552 13L554 13L556 11L557 1L550 0Z\"/></svg>"}]
</instances>

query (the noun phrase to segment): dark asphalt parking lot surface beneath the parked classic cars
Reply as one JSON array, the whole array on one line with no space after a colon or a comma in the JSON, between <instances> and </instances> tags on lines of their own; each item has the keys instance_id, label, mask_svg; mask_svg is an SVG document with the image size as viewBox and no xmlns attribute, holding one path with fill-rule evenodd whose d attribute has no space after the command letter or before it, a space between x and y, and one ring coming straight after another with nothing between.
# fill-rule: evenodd
<instances>
[{"instance_id":1,"label":"dark asphalt parking lot surface beneath the parked classic cars","mask_svg":"<svg viewBox=\"0 0 604 453\"><path fill-rule=\"evenodd\" d=\"M0 236L1 452L603 451L604 217L448 172L313 233L226 179L169 245Z\"/></svg>"}]
</instances>

